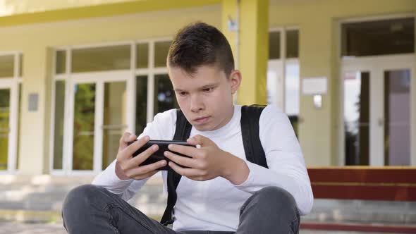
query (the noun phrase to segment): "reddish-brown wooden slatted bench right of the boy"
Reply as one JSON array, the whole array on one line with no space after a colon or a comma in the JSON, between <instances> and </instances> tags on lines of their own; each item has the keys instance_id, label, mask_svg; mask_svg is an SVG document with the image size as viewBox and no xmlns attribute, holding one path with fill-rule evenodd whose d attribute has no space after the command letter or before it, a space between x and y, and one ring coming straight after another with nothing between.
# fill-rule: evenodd
<instances>
[{"instance_id":1,"label":"reddish-brown wooden slatted bench right of the boy","mask_svg":"<svg viewBox=\"0 0 416 234\"><path fill-rule=\"evenodd\" d=\"M307 169L315 199L416 202L416 167L343 166ZM301 228L416 233L415 226L302 222Z\"/></svg>"}]
</instances>

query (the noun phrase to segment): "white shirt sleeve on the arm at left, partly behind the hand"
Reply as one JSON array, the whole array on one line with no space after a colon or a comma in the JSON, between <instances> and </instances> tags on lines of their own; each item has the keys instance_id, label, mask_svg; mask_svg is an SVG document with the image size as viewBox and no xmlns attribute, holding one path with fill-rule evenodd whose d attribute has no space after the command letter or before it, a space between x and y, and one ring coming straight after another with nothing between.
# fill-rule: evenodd
<instances>
[{"instance_id":1,"label":"white shirt sleeve on the arm at left, partly behind the hand","mask_svg":"<svg viewBox=\"0 0 416 234\"><path fill-rule=\"evenodd\" d=\"M172 109L154 116L152 123L147 123L145 130L140 134L149 135L152 140L172 140L176 128L176 110ZM105 187L109 192L128 200L145 185L149 178L143 180L121 180L116 175L116 160L114 160L102 173L92 181L93 185Z\"/></svg>"}]
</instances>

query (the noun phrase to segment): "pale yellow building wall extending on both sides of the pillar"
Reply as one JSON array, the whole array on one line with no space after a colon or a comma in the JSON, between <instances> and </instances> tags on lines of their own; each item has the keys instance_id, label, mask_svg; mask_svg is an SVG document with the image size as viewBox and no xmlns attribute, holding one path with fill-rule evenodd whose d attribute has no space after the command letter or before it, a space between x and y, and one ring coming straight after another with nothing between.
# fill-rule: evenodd
<instances>
[{"instance_id":1,"label":"pale yellow building wall extending on both sides of the pillar","mask_svg":"<svg viewBox=\"0 0 416 234\"><path fill-rule=\"evenodd\" d=\"M248 0L243 0L248 1ZM140 6L143 2L146 7ZM161 6L162 2L165 5ZM180 4L175 4L179 3ZM220 4L222 2L222 4ZM416 11L415 0L271 0L269 27L298 26L300 30L300 77L326 76L329 92L323 97L323 108L314 109L312 97L301 96L299 137L308 166L337 165L338 162L338 48L339 20L369 16L386 16ZM213 6L193 7L196 4ZM147 4L147 5L146 5ZM160 6L159 6L159 5ZM23 51L23 100L20 136L20 169L23 173L46 173L49 168L49 116L51 88L51 51L54 47L131 41L171 37L178 28L202 20L223 32L233 45L234 36L226 32L228 13L233 1L162 1L143 0L121 4L121 8L63 9L34 15L0 18L0 51ZM135 6L135 9L130 9ZM249 6L249 5L247 5ZM181 8L182 7L182 8ZM169 11L156 11L171 8ZM89 11L93 9L93 11ZM150 11L145 13L134 13ZM255 9L253 8L252 11ZM229 11L233 17L232 10ZM250 8L244 11L250 14ZM89 16L89 13L93 13ZM242 12L243 13L243 12ZM260 12L261 13L261 12ZM93 16L105 16L91 18ZM255 16L255 13L253 14ZM244 18L245 16L240 16ZM87 18L87 19L85 19ZM52 22L57 20L57 22ZM245 18L247 20L247 18ZM242 20L242 22L245 22ZM47 22L47 23L45 23ZM32 23L32 24L27 24ZM1 27L2 26L2 27ZM249 37L244 37L249 38ZM250 43L250 42L249 42ZM255 52L256 53L256 52ZM45 63L44 61L48 61ZM260 65L262 62L259 62ZM245 65L248 66L248 65ZM244 69L244 68L243 68ZM249 69L249 68L245 68ZM253 73L254 74L254 73ZM244 75L243 82L257 80ZM256 82L253 92L264 89ZM27 111L28 94L39 93L39 111ZM252 96L253 94L247 94ZM262 94L258 99L262 99ZM264 94L263 94L264 95ZM413 95L415 97L415 94ZM257 97L256 97L257 98ZM414 99L414 98L413 98ZM257 100L257 99L256 99ZM415 109L413 110L415 113ZM413 114L412 118L416 118ZM415 123L415 120L413 120ZM413 126L416 135L416 126ZM416 145L415 139L412 145ZM415 159L413 159L415 160ZM415 161L413 162L415 164Z\"/></svg>"}]
</instances>

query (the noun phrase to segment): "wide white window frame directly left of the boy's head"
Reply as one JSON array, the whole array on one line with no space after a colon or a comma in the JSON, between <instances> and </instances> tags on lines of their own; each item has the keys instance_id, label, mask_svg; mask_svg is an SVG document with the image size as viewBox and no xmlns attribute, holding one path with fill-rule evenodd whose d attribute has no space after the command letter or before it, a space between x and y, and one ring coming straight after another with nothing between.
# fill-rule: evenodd
<instances>
[{"instance_id":1,"label":"wide white window frame directly left of the boy's head","mask_svg":"<svg viewBox=\"0 0 416 234\"><path fill-rule=\"evenodd\" d=\"M147 123L153 121L154 117L154 76L160 74L167 74L168 69L154 68L154 44L156 42L168 42L172 37L161 37L156 39L140 39L128 42L114 42L104 44L89 44L73 47L56 47L53 59L53 74L52 79L52 100L51 100L51 128L49 141L49 171L52 175L61 176L90 176L102 171L102 125L103 105L104 100L104 83L126 81L127 92L127 107L129 113L126 115L128 128L130 133L135 133L135 87L136 76L147 76ZM139 43L148 44L148 68L135 68L136 66L136 45ZM71 51L72 49L87 49L93 47L116 46L116 45L130 45L130 69L126 70L110 70L105 72L88 72L88 73L71 73ZM66 51L66 72L63 74L56 74L56 51ZM54 128L55 128L55 99L56 80L65 80L65 110L64 110L64 135L63 135L63 168L56 170L54 166ZM95 99L95 116L94 116L94 163L93 170L78 171L72 169L73 160L73 87L80 82L96 84L96 99ZM100 111L101 110L101 111Z\"/></svg>"}]
</instances>

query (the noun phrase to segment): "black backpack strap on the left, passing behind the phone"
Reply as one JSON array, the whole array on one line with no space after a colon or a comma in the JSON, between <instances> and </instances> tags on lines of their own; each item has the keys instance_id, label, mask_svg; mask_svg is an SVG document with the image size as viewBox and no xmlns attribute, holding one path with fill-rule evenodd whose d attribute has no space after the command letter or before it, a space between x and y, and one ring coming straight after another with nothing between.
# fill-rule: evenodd
<instances>
[{"instance_id":1,"label":"black backpack strap on the left, passing behind the phone","mask_svg":"<svg viewBox=\"0 0 416 234\"><path fill-rule=\"evenodd\" d=\"M181 109L176 110L176 130L173 140L187 140L190 136L190 130L192 130L192 125L190 125L188 120L185 118ZM176 171L169 169L167 179L168 203L160 221L165 226L173 223L173 207L175 207L177 199L176 187L178 187L181 177L182 176L176 173Z\"/></svg>"}]
</instances>

